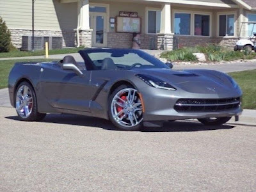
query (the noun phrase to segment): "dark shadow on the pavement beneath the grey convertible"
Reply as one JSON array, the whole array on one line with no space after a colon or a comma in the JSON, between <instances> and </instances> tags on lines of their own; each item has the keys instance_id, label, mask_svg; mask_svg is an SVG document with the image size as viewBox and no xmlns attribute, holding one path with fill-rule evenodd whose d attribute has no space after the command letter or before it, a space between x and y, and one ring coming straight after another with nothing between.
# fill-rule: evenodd
<instances>
[{"instance_id":1,"label":"dark shadow on the pavement beneath the grey convertible","mask_svg":"<svg viewBox=\"0 0 256 192\"><path fill-rule=\"evenodd\" d=\"M6 116L11 120L19 120L18 116ZM101 118L94 118L81 115L47 115L42 123L79 125L84 127L99 127L111 131L118 130L110 121ZM163 127L143 127L141 132L193 132L193 131L213 131L218 129L232 129L232 125L205 126L199 122L164 122Z\"/></svg>"}]
</instances>

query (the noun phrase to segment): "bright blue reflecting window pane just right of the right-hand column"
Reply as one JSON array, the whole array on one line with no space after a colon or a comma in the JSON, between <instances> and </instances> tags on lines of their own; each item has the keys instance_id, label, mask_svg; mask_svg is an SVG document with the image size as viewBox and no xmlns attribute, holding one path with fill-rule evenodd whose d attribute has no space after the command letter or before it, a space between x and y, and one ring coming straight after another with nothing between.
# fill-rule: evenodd
<instances>
[{"instance_id":1,"label":"bright blue reflecting window pane just right of the right-hand column","mask_svg":"<svg viewBox=\"0 0 256 192\"><path fill-rule=\"evenodd\" d=\"M190 35L190 13L175 13L174 19L174 34L175 35Z\"/></svg>"}]
</instances>

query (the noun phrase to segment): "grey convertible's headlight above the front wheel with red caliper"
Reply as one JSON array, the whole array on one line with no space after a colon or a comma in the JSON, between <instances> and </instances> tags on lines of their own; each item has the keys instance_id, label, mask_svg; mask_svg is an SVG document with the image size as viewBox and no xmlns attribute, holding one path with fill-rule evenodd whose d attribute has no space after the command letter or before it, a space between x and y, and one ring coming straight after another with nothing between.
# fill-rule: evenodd
<instances>
[{"instance_id":1,"label":"grey convertible's headlight above the front wheel with red caliper","mask_svg":"<svg viewBox=\"0 0 256 192\"><path fill-rule=\"evenodd\" d=\"M176 90L176 88L174 88L172 85L170 85L156 77L152 77L152 76L148 76L148 75L140 75L140 74L136 75L136 77L139 77L142 81L144 81L149 86L152 86L154 88L159 88L159 89L163 89L163 90L172 90L172 91Z\"/></svg>"}]
</instances>

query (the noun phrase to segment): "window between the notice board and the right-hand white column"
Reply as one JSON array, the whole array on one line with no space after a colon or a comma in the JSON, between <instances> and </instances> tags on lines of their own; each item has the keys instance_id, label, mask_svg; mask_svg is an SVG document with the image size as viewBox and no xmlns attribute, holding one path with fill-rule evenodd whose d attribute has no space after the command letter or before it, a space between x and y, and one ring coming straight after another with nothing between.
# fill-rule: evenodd
<instances>
[{"instance_id":1,"label":"window between the notice board and the right-hand white column","mask_svg":"<svg viewBox=\"0 0 256 192\"><path fill-rule=\"evenodd\" d=\"M161 12L148 11L148 33L160 33Z\"/></svg>"}]
</instances>

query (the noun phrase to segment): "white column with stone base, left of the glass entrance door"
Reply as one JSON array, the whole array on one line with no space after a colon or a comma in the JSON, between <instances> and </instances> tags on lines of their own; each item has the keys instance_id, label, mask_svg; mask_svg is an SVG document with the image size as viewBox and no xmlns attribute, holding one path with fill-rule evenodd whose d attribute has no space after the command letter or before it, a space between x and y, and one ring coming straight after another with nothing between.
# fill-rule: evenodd
<instances>
[{"instance_id":1,"label":"white column with stone base, left of the glass entrance door","mask_svg":"<svg viewBox=\"0 0 256 192\"><path fill-rule=\"evenodd\" d=\"M90 29L89 0L78 0L77 19L79 43L84 47L92 47L92 29Z\"/></svg>"}]
</instances>

